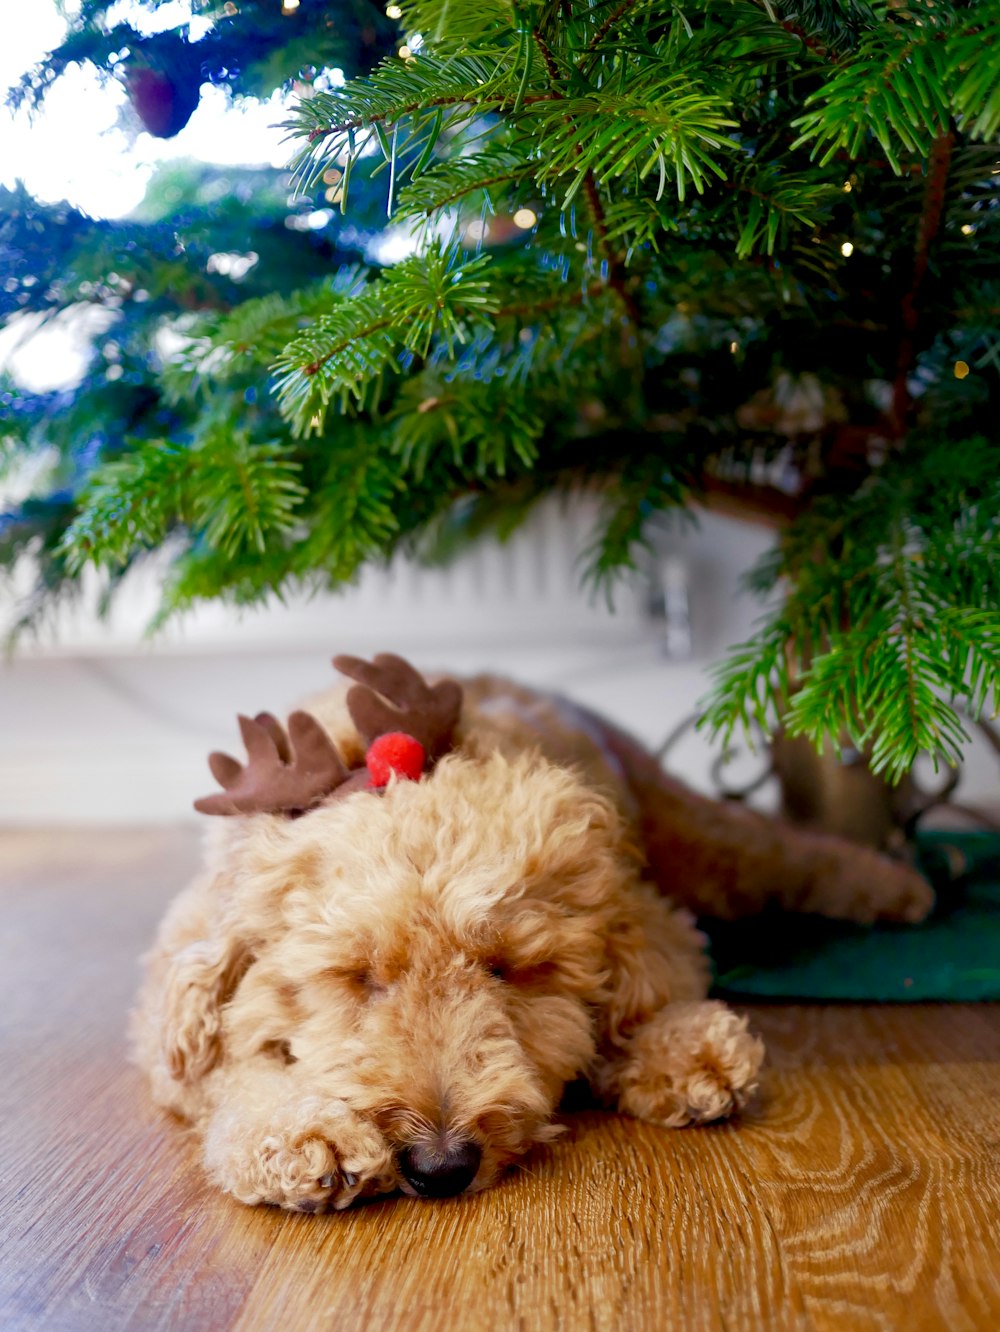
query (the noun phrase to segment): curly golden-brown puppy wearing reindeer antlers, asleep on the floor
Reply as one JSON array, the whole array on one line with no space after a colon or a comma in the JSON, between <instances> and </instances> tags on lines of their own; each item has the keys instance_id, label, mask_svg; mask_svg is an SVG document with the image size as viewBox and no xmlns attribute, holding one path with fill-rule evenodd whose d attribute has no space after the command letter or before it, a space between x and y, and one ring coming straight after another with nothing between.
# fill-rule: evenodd
<instances>
[{"instance_id":1,"label":"curly golden-brown puppy wearing reindeer antlers, asleep on the floor","mask_svg":"<svg viewBox=\"0 0 1000 1332\"><path fill-rule=\"evenodd\" d=\"M486 1188L557 1132L579 1076L659 1124L728 1115L763 1046L706 999L691 911L931 906L905 867L703 799L562 699L482 677L437 686L417 725L433 691L398 658L338 665L362 681L350 701L314 699L288 735L244 722L245 769L213 755L226 791L200 807L234 817L162 922L133 1016L156 1100L245 1203ZM393 718L410 737L385 738L373 787L368 742ZM437 765L406 779L398 745Z\"/></svg>"}]
</instances>

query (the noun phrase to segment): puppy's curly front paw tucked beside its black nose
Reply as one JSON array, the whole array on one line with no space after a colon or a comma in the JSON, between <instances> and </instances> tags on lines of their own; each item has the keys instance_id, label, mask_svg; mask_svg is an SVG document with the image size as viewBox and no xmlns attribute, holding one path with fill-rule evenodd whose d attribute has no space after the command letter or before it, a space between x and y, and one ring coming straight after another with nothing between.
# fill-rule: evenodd
<instances>
[{"instance_id":1,"label":"puppy's curly front paw tucked beside its black nose","mask_svg":"<svg viewBox=\"0 0 1000 1332\"><path fill-rule=\"evenodd\" d=\"M294 1212L341 1211L395 1187L378 1131L344 1106L304 1103L264 1132L216 1116L205 1135L209 1175L241 1203Z\"/></svg>"}]
</instances>

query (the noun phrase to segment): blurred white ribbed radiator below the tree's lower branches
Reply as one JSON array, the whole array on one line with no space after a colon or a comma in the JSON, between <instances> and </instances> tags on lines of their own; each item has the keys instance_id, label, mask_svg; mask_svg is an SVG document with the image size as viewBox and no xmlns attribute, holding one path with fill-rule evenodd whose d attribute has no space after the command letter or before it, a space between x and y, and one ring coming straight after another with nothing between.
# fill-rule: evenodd
<instances>
[{"instance_id":1,"label":"blurred white ribbed radiator below the tree's lower branches","mask_svg":"<svg viewBox=\"0 0 1000 1332\"><path fill-rule=\"evenodd\" d=\"M530 638L619 642L644 630L646 583L623 581L615 611L582 586L583 551L593 539L597 509L546 503L506 543L482 541L447 569L423 569L403 559L391 569L368 569L341 593L296 593L285 603L240 611L205 605L168 625L156 638L158 653L238 651L397 642L401 650L437 645L507 645ZM93 614L96 586L79 607L67 607L39 643L23 651L65 657L81 651L134 653L153 617L164 566L140 567L121 589L109 621ZM96 582L96 581L95 581ZM0 602L0 623L11 613Z\"/></svg>"}]
</instances>

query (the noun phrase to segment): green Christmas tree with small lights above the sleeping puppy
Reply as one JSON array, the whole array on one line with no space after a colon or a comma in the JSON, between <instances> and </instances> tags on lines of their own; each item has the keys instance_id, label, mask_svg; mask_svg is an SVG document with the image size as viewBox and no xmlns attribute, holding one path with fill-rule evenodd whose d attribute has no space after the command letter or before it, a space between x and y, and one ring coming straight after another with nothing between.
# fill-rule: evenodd
<instances>
[{"instance_id":1,"label":"green Christmas tree with small lights above the sleeping puppy","mask_svg":"<svg viewBox=\"0 0 1000 1332\"><path fill-rule=\"evenodd\" d=\"M88 60L172 135L206 83L300 92L292 214L266 172L4 201L3 313L109 314L77 389L0 398L5 465L51 460L0 519L28 621L164 546L164 614L248 603L574 489L611 586L707 502L775 525L784 591L710 722L957 759L1000 678L1000 0L194 8L84 0L13 93Z\"/></svg>"}]
</instances>

